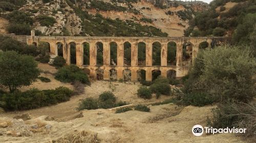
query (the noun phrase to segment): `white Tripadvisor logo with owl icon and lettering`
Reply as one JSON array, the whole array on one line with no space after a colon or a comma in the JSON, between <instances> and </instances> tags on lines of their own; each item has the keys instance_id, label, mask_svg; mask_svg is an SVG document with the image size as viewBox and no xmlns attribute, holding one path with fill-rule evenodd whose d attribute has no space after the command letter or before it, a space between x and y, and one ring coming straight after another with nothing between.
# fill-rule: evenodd
<instances>
[{"instance_id":1,"label":"white Tripadvisor logo with owl icon and lettering","mask_svg":"<svg viewBox=\"0 0 256 143\"><path fill-rule=\"evenodd\" d=\"M204 131L205 133L210 133L210 134L215 134L215 133L245 133L246 129L238 129L238 128L220 128L220 129L216 129L216 128L212 128L212 127L202 127L201 125L195 125L192 128L192 133L195 136L201 136Z\"/></svg>"}]
</instances>

